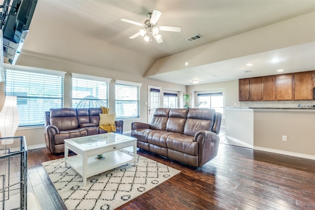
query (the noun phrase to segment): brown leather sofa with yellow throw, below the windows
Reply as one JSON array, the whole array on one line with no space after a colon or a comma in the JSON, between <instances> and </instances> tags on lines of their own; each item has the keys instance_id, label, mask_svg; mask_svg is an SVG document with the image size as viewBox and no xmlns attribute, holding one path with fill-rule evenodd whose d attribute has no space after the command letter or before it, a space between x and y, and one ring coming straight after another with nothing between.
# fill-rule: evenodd
<instances>
[{"instance_id":1,"label":"brown leather sofa with yellow throw, below the windows","mask_svg":"<svg viewBox=\"0 0 315 210\"><path fill-rule=\"evenodd\" d=\"M101 108L51 108L45 112L45 142L51 153L63 153L65 139L107 133L99 129ZM116 133L123 134L123 120L116 120Z\"/></svg>"}]
</instances>

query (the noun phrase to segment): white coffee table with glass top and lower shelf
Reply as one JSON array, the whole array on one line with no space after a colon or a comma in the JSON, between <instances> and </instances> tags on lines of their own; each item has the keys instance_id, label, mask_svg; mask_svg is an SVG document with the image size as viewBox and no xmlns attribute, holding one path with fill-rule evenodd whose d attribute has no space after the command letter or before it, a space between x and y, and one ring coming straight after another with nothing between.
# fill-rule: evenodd
<instances>
[{"instance_id":1,"label":"white coffee table with glass top and lower shelf","mask_svg":"<svg viewBox=\"0 0 315 210\"><path fill-rule=\"evenodd\" d=\"M119 149L133 146L133 156ZM77 156L68 157L68 150ZM98 160L97 155L105 158ZM87 178L137 160L137 139L115 133L99 134L64 140L64 166L70 165L83 177L83 186Z\"/></svg>"}]
</instances>

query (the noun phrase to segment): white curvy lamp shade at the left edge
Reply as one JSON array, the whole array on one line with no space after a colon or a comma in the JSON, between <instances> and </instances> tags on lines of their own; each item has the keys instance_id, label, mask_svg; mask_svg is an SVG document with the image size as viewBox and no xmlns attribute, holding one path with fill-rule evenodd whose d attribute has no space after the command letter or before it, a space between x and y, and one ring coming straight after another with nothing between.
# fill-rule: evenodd
<instances>
[{"instance_id":1,"label":"white curvy lamp shade at the left edge","mask_svg":"<svg viewBox=\"0 0 315 210\"><path fill-rule=\"evenodd\" d=\"M4 105L0 112L0 133L2 138L14 137L19 126L20 116L16 102L16 96L5 96ZM9 144L2 141L1 144Z\"/></svg>"}]
</instances>

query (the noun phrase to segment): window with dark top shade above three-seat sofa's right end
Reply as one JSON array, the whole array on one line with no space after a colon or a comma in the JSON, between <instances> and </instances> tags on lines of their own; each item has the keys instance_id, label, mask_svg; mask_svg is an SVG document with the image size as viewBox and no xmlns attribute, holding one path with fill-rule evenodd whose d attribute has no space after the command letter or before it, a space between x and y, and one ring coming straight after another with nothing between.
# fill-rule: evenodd
<instances>
[{"instance_id":1,"label":"window with dark top shade above three-seat sofa's right end","mask_svg":"<svg viewBox=\"0 0 315 210\"><path fill-rule=\"evenodd\" d=\"M196 106L200 108L213 108L223 114L223 93L198 94Z\"/></svg>"}]
</instances>

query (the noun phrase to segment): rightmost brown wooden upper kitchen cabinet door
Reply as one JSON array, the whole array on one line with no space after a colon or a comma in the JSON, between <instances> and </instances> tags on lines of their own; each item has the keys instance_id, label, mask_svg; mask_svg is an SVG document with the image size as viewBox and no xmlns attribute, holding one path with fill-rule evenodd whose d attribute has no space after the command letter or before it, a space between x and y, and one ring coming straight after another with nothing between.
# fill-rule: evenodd
<instances>
[{"instance_id":1,"label":"rightmost brown wooden upper kitchen cabinet door","mask_svg":"<svg viewBox=\"0 0 315 210\"><path fill-rule=\"evenodd\" d=\"M294 100L313 100L313 71L294 73Z\"/></svg>"}]
</instances>

